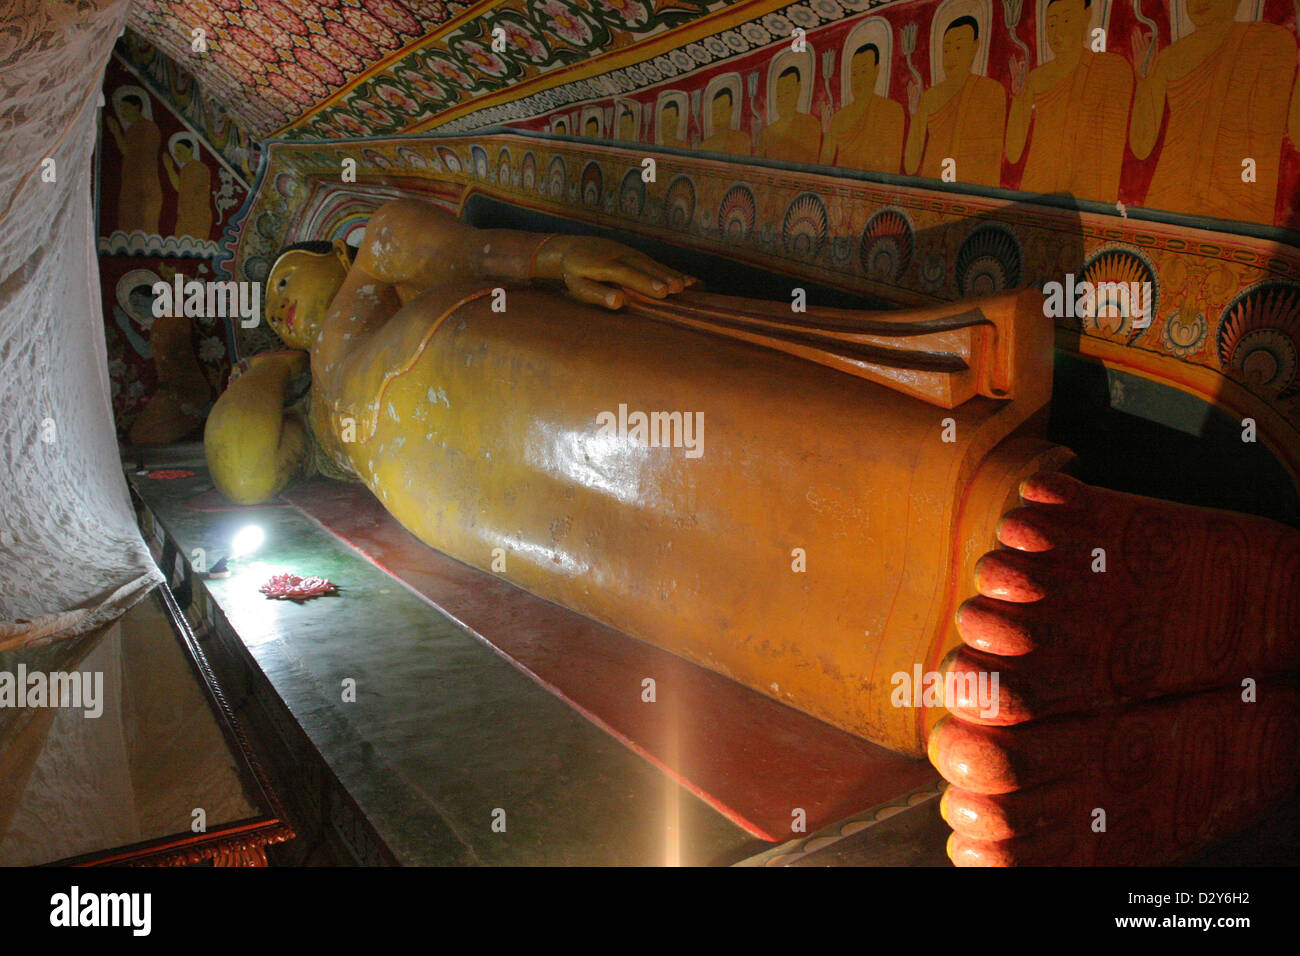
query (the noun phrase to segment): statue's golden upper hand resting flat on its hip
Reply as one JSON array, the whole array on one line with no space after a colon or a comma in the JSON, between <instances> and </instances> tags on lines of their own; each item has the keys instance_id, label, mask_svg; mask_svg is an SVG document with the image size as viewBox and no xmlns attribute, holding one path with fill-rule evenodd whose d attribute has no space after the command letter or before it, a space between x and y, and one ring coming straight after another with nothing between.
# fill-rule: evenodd
<instances>
[{"instance_id":1,"label":"statue's golden upper hand resting flat on its hip","mask_svg":"<svg viewBox=\"0 0 1300 956\"><path fill-rule=\"evenodd\" d=\"M537 255L537 274L560 278L581 302L621 308L625 291L662 299L696 280L633 248L589 235L556 235Z\"/></svg>"}]
</instances>

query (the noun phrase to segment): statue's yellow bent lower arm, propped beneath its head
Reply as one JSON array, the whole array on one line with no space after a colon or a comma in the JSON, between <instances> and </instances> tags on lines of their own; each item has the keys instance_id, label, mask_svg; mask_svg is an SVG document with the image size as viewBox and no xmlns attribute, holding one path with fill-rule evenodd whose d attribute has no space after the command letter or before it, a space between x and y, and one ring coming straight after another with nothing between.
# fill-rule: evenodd
<instances>
[{"instance_id":1,"label":"statue's yellow bent lower arm, propped beneath its head","mask_svg":"<svg viewBox=\"0 0 1300 956\"><path fill-rule=\"evenodd\" d=\"M307 455L307 434L283 403L307 354L265 352L221 393L208 415L203 449L212 484L238 505L256 505L289 484Z\"/></svg>"}]
</instances>

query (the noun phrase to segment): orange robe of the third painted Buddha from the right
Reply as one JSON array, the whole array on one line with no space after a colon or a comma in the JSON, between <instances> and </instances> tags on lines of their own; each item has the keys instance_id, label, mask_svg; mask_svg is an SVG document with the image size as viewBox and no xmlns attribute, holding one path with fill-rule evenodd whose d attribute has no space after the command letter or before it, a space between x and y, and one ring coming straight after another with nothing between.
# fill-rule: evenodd
<instances>
[{"instance_id":1,"label":"orange robe of the third painted Buddha from the right","mask_svg":"<svg viewBox=\"0 0 1300 956\"><path fill-rule=\"evenodd\" d=\"M978 186L1002 182L1006 90L996 79L971 73L961 91L930 116L920 174L941 179L944 160L957 161L957 181Z\"/></svg>"}]
</instances>

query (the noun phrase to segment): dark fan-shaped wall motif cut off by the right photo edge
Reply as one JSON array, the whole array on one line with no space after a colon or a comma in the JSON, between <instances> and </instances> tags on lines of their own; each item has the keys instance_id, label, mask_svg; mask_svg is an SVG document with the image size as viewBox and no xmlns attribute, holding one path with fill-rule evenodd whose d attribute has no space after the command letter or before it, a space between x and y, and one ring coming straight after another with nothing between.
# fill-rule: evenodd
<instances>
[{"instance_id":1,"label":"dark fan-shaped wall motif cut off by the right photo edge","mask_svg":"<svg viewBox=\"0 0 1300 956\"><path fill-rule=\"evenodd\" d=\"M1300 393L1300 285L1261 282L1223 310L1218 332L1219 364L1252 389L1278 398Z\"/></svg>"}]
</instances>

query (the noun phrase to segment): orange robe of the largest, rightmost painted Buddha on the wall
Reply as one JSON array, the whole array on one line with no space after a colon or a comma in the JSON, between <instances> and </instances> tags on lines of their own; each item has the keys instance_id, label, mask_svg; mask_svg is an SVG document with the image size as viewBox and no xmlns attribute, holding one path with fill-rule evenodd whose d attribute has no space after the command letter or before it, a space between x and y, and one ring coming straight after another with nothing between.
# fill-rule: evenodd
<instances>
[{"instance_id":1,"label":"orange robe of the largest, rightmost painted Buddha on the wall","mask_svg":"<svg viewBox=\"0 0 1300 956\"><path fill-rule=\"evenodd\" d=\"M1170 81L1165 142L1143 204L1271 224L1295 66L1287 30L1234 23L1218 49ZM1254 182L1242 182L1248 157Z\"/></svg>"}]
</instances>

